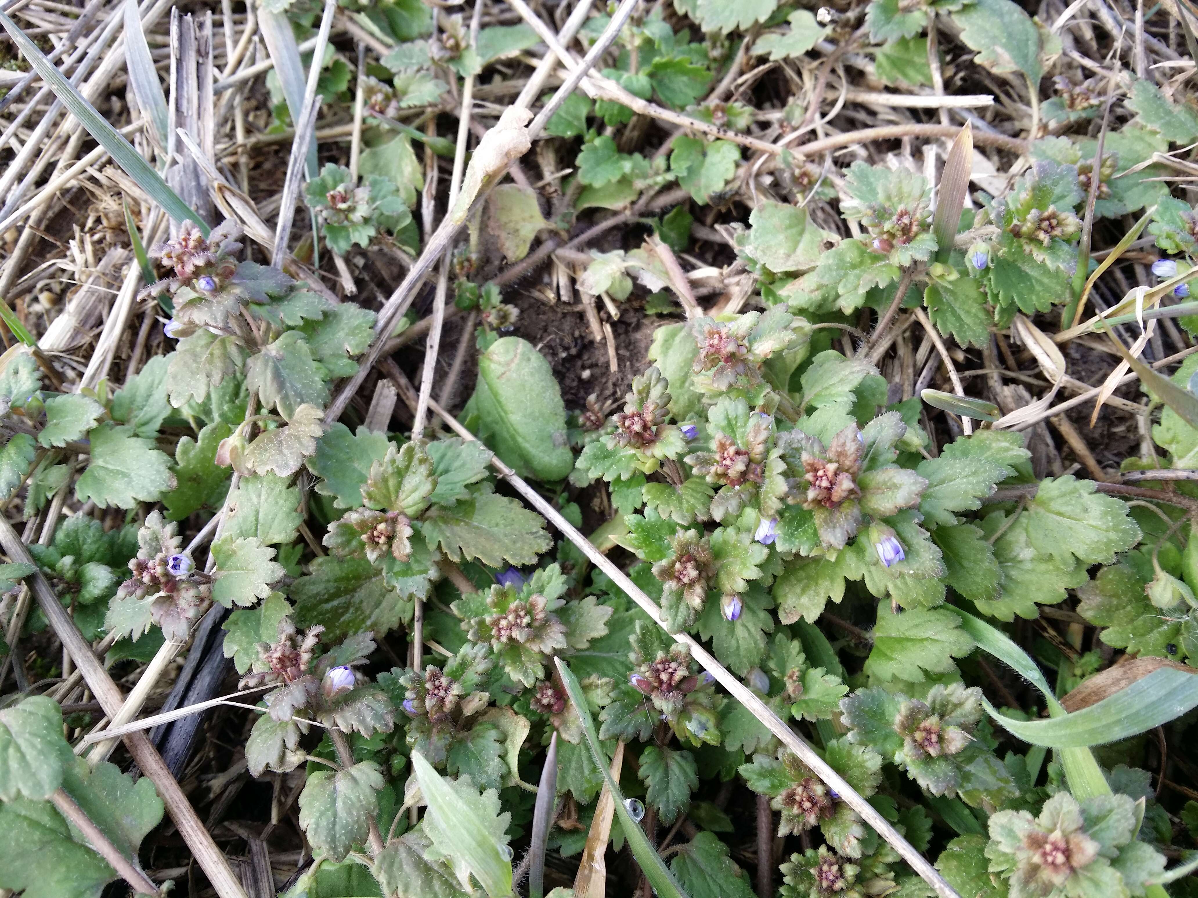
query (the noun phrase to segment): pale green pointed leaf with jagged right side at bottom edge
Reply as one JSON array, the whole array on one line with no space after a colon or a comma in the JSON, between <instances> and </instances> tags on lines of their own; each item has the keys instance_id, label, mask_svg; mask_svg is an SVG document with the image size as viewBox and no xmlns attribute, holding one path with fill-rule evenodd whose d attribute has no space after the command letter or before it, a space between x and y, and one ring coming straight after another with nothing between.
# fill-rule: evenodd
<instances>
[{"instance_id":1,"label":"pale green pointed leaf with jagged right side at bottom edge","mask_svg":"<svg viewBox=\"0 0 1198 898\"><path fill-rule=\"evenodd\" d=\"M419 752L412 752L412 769L429 802L425 831L437 853L452 860L461 887L471 888L473 875L490 898L510 894L512 862L500 851L506 839L496 838L496 831L507 829L508 814L498 813L495 791L479 795L468 781L443 779Z\"/></svg>"}]
</instances>

